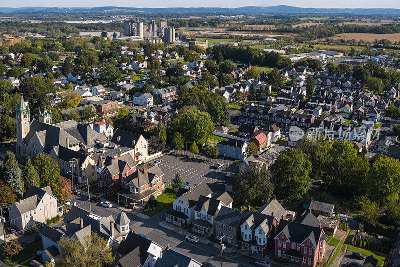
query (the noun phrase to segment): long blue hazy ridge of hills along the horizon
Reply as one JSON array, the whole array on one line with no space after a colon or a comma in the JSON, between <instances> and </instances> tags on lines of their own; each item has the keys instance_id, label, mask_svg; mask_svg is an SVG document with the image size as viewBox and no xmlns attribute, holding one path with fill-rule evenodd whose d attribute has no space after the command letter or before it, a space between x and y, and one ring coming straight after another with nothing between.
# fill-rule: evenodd
<instances>
[{"instance_id":1,"label":"long blue hazy ridge of hills along the horizon","mask_svg":"<svg viewBox=\"0 0 400 267\"><path fill-rule=\"evenodd\" d=\"M123 6L99 6L99 7L43 7L43 6L25 6L25 7L0 7L0 12L8 14L17 13L35 13L35 12L151 12L151 13L253 13L253 14L400 14L400 9L396 8L312 8L296 7L289 5L276 6L242 6L236 8L226 7L165 7L165 8L147 8L147 7L123 7Z\"/></svg>"}]
</instances>

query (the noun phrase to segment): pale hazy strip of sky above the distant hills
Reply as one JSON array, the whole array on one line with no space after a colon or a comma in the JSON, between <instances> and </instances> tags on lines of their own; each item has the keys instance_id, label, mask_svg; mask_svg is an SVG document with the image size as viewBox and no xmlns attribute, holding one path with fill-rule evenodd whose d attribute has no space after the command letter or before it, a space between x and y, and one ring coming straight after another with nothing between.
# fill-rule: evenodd
<instances>
[{"instance_id":1,"label":"pale hazy strip of sky above the distant hills","mask_svg":"<svg viewBox=\"0 0 400 267\"><path fill-rule=\"evenodd\" d=\"M286 4L301 7L386 7L400 8L400 0L0 0L0 6L131 6L131 7L237 7L237 6L270 6Z\"/></svg>"}]
</instances>

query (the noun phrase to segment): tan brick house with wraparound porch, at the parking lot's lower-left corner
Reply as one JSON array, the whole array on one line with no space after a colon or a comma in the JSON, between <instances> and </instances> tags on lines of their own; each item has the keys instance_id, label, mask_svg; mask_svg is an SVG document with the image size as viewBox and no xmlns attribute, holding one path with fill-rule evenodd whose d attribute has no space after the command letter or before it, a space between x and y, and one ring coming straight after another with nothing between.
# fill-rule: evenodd
<instances>
[{"instance_id":1,"label":"tan brick house with wraparound porch, at the parking lot's lower-left corner","mask_svg":"<svg viewBox=\"0 0 400 267\"><path fill-rule=\"evenodd\" d=\"M156 198L163 192L162 177L164 173L154 165L143 166L124 177L121 181L122 190L118 191L118 203L122 201L131 205L144 205L151 196Z\"/></svg>"}]
</instances>

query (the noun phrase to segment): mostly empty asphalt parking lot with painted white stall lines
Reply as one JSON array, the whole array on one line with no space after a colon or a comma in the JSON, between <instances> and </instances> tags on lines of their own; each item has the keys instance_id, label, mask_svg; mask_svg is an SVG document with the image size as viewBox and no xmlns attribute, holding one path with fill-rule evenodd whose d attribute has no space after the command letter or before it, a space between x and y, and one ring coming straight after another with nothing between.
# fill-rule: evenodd
<instances>
[{"instance_id":1,"label":"mostly empty asphalt parking lot with painted white stall lines","mask_svg":"<svg viewBox=\"0 0 400 267\"><path fill-rule=\"evenodd\" d=\"M170 184L176 172L180 174L184 182L195 186L201 182L215 183L224 182L229 173L237 173L232 167L223 166L217 169L215 163L195 159L179 154L163 155L157 160L161 161L158 167L164 173L163 182Z\"/></svg>"}]
</instances>

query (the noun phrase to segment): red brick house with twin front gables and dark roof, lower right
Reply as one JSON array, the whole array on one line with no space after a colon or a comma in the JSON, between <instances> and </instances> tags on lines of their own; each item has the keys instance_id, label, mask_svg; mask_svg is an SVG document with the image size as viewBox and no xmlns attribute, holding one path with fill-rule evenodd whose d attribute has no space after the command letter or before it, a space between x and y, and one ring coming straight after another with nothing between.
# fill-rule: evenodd
<instances>
[{"instance_id":1,"label":"red brick house with twin front gables and dark roof, lower right","mask_svg":"<svg viewBox=\"0 0 400 267\"><path fill-rule=\"evenodd\" d=\"M319 224L305 224L312 214L306 214L303 223L280 220L275 236L275 258L315 267L323 258L326 236Z\"/></svg>"}]
</instances>

